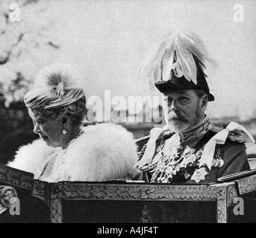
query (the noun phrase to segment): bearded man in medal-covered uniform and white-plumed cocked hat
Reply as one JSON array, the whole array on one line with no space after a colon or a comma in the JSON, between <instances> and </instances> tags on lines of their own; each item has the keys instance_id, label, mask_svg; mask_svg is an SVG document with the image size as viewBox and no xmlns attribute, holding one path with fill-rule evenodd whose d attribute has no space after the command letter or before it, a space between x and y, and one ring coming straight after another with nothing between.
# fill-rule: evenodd
<instances>
[{"instance_id":1,"label":"bearded man in medal-covered uniform and white-plumed cocked hat","mask_svg":"<svg viewBox=\"0 0 256 238\"><path fill-rule=\"evenodd\" d=\"M151 183L209 184L219 177L250 170L246 139L252 135L238 123L221 129L205 109L213 101L205 63L213 62L194 33L172 33L150 54L147 77L165 96L167 121L152 129L139 152L140 179ZM144 69L145 69L144 68ZM208 203L173 203L171 222L215 222L216 208Z\"/></svg>"}]
</instances>

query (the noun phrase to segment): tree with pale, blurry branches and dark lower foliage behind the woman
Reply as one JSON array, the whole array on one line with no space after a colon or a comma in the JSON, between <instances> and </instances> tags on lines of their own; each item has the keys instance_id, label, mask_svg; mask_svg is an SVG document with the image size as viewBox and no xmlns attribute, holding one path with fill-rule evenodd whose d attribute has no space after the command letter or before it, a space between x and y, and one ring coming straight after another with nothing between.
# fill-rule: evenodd
<instances>
[{"instance_id":1,"label":"tree with pale, blurry branches and dark lower foliage behind the woman","mask_svg":"<svg viewBox=\"0 0 256 238\"><path fill-rule=\"evenodd\" d=\"M22 98L59 51L49 0L0 1L0 162L37 136ZM15 16L16 14L16 16Z\"/></svg>"}]
</instances>

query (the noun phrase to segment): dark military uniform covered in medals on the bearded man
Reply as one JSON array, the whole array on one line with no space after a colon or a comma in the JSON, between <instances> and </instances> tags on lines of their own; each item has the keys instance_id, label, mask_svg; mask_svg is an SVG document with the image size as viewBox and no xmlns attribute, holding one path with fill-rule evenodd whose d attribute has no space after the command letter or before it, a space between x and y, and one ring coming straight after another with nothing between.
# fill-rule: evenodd
<instances>
[{"instance_id":1,"label":"dark military uniform covered in medals on the bearded man","mask_svg":"<svg viewBox=\"0 0 256 238\"><path fill-rule=\"evenodd\" d=\"M155 141L152 158L144 157L147 144L139 155L137 168L143 171L140 179L152 183L209 184L219 177L249 170L246 140L240 131L228 132L225 144L216 144L210 168L200 166L205 145L222 129L208 118L199 126L182 133L164 130Z\"/></svg>"}]
</instances>

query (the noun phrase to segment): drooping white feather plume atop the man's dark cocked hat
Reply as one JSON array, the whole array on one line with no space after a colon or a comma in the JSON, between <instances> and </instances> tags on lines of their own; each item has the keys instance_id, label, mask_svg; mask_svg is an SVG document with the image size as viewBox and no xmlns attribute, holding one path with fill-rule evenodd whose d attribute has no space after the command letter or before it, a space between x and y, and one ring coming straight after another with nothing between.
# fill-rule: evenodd
<instances>
[{"instance_id":1,"label":"drooping white feather plume atop the man's dark cocked hat","mask_svg":"<svg viewBox=\"0 0 256 238\"><path fill-rule=\"evenodd\" d=\"M206 62L214 67L217 66L216 61L208 56L205 44L196 33L175 31L163 37L160 44L149 52L143 66L140 68L139 77L148 78L150 83L159 81L163 70L163 60L164 62L170 62L174 55L184 77L188 81L192 80L195 84L197 84L197 75L196 62L193 56L197 57L202 68L205 68ZM174 66L168 65L170 69Z\"/></svg>"}]
</instances>

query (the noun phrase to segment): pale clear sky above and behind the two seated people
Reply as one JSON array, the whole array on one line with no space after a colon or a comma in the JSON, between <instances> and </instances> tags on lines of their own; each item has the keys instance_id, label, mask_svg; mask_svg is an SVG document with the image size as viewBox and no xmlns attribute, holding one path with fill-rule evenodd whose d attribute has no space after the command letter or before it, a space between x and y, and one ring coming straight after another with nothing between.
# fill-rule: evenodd
<instances>
[{"instance_id":1,"label":"pale clear sky above and behind the two seated people","mask_svg":"<svg viewBox=\"0 0 256 238\"><path fill-rule=\"evenodd\" d=\"M243 7L242 22L234 20L236 4ZM60 45L51 61L75 65L87 97L104 97L105 89L111 96L157 94L149 83L134 82L140 65L164 34L188 29L202 37L219 63L215 71L206 71L216 98L208 115L254 115L256 1L51 0L49 9L54 19L49 37Z\"/></svg>"}]
</instances>

